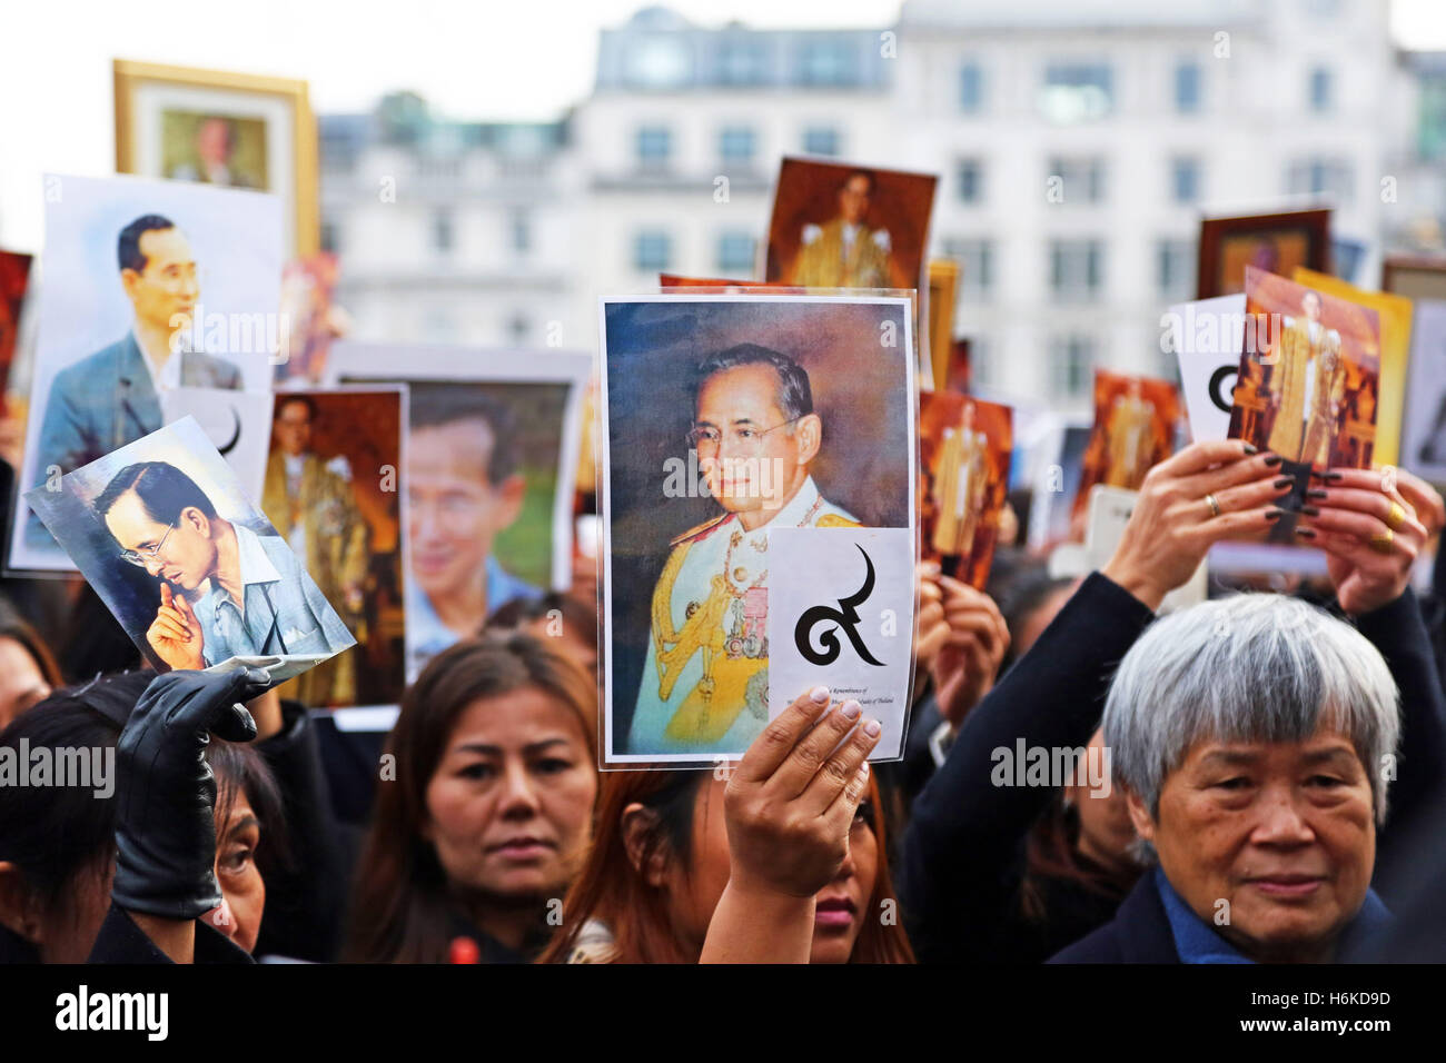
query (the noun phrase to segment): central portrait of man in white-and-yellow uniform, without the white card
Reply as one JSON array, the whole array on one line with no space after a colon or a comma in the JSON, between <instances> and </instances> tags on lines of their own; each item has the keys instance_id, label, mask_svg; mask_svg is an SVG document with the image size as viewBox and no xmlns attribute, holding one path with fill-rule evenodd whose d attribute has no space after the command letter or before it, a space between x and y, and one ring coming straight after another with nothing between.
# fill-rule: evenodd
<instances>
[{"instance_id":1,"label":"central portrait of man in white-and-yellow uniform, without the white card","mask_svg":"<svg viewBox=\"0 0 1446 1063\"><path fill-rule=\"evenodd\" d=\"M603 301L604 759L737 756L766 723L769 528L914 526L911 323L899 298Z\"/></svg>"}]
</instances>

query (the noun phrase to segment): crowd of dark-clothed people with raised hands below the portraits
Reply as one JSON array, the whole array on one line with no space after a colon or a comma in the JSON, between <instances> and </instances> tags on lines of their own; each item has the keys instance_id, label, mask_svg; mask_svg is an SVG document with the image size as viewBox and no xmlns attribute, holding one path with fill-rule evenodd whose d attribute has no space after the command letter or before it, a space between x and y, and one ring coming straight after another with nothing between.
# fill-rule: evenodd
<instances>
[{"instance_id":1,"label":"crowd of dark-clothed people with raised hands below the portraits","mask_svg":"<svg viewBox=\"0 0 1446 1063\"><path fill-rule=\"evenodd\" d=\"M1327 580L1157 616L1283 516L1280 464L1178 451L1082 580L1009 544L986 592L920 564L907 754L879 764L879 723L820 686L736 762L599 771L591 573L431 659L380 746L265 673L146 671L85 589L6 581L0 764L114 772L0 775L0 956L1442 959L1446 564L1417 573L1442 496L1316 473L1294 534Z\"/></svg>"}]
</instances>

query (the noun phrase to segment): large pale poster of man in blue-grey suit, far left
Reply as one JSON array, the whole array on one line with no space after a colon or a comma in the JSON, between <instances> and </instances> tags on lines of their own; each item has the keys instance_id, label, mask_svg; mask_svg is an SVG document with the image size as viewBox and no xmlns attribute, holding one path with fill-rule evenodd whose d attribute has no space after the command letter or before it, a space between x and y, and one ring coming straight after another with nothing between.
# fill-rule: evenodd
<instances>
[{"instance_id":1,"label":"large pale poster of man in blue-grey suit, far left","mask_svg":"<svg viewBox=\"0 0 1446 1063\"><path fill-rule=\"evenodd\" d=\"M17 492L187 414L215 427L213 440L243 477L259 471L268 418L257 415L260 401L239 396L270 390L285 340L281 200L179 181L59 175L46 175L43 197L46 282L36 299ZM243 486L254 493L260 483ZM71 571L65 551L22 506L7 567Z\"/></svg>"}]
</instances>

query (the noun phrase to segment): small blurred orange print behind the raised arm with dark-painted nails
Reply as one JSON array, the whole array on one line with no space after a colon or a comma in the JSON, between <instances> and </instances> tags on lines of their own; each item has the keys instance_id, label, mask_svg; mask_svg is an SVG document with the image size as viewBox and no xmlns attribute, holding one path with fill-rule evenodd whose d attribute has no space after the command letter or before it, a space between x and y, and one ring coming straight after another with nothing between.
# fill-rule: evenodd
<instances>
[{"instance_id":1,"label":"small blurred orange print behind the raised arm with dark-painted nails","mask_svg":"<svg viewBox=\"0 0 1446 1063\"><path fill-rule=\"evenodd\" d=\"M1180 390L1168 380L1095 370L1095 428L1073 518L1083 516L1095 484L1139 490L1145 473L1174 453Z\"/></svg>"}]
</instances>

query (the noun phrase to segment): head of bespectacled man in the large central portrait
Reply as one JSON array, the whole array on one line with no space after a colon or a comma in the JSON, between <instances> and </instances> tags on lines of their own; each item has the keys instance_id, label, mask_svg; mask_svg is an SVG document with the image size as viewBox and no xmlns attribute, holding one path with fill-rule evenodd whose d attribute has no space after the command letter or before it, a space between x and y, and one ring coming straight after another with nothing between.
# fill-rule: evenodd
<instances>
[{"instance_id":1,"label":"head of bespectacled man in the large central portrait","mask_svg":"<svg viewBox=\"0 0 1446 1063\"><path fill-rule=\"evenodd\" d=\"M778 372L768 364L714 373L698 389L698 467L709 493L733 513L781 508L808 476L818 453L816 414L791 425L778 401Z\"/></svg>"}]
</instances>

